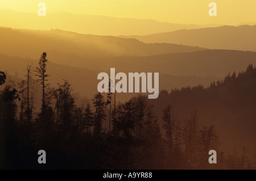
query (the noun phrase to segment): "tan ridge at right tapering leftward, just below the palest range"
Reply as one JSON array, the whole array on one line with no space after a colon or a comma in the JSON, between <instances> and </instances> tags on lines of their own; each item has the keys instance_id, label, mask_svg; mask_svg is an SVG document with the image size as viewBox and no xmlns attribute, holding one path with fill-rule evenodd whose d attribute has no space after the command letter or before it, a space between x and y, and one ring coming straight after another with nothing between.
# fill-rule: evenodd
<instances>
[{"instance_id":1,"label":"tan ridge at right tapering leftward, just below the palest range","mask_svg":"<svg viewBox=\"0 0 256 181\"><path fill-rule=\"evenodd\" d=\"M134 38L144 43L174 43L209 49L256 51L256 25L221 26L195 30L179 30L146 36L119 36Z\"/></svg>"}]
</instances>

